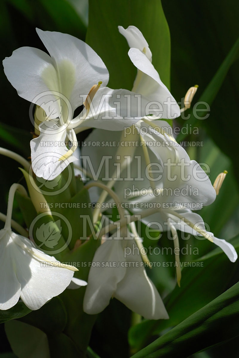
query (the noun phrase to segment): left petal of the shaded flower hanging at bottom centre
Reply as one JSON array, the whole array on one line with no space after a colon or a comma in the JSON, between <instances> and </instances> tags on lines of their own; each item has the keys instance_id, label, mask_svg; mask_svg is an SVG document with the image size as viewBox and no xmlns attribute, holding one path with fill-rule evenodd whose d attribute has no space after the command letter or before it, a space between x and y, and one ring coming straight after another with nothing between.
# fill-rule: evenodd
<instances>
[{"instance_id":1,"label":"left petal of the shaded flower hanging at bottom centre","mask_svg":"<svg viewBox=\"0 0 239 358\"><path fill-rule=\"evenodd\" d=\"M99 262L99 267L91 266L88 277L88 285L83 301L83 310L88 314L97 314L110 303L111 297L116 291L118 282L125 275L124 251L121 240L106 240L95 252L94 262ZM116 262L116 267L103 267ZM118 266L119 263L119 267Z\"/></svg>"}]
</instances>

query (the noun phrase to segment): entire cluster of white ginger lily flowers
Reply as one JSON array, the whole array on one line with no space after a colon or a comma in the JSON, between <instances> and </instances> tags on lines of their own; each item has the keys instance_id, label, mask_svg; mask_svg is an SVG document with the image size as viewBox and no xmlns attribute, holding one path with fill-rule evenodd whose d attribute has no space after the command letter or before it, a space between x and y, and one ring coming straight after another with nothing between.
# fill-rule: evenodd
<instances>
[{"instance_id":1,"label":"entire cluster of white ginger lily flowers","mask_svg":"<svg viewBox=\"0 0 239 358\"><path fill-rule=\"evenodd\" d=\"M35 105L31 179L51 183L72 163L86 181L92 202L99 204L92 223L97 229L106 214L103 204L116 203L120 225L115 229L112 222L101 228L101 245L93 260L99 265L92 265L89 272L84 311L97 314L115 297L145 318L167 319L163 301L142 264L148 262L147 256L132 252L134 244L143 247L134 218L146 225L153 223L159 232L171 232L175 248L180 246L180 230L215 243L234 262L234 247L207 231L201 216L192 211L214 202L225 175L214 189L201 166L176 142L169 125L169 120L190 107L197 86L188 90L185 107L180 109L152 64L143 34L135 26L119 26L119 32L127 40L129 58L137 68L132 91L107 87L107 68L85 42L39 29L37 34L49 54L36 48L19 48L3 61L4 71L19 96ZM76 110L80 114L75 115ZM90 128L95 129L86 138L89 145L80 152L76 135ZM107 139L118 145L110 149L90 145ZM16 154L0 153L28 166ZM109 157L113 161L104 161ZM97 180L92 173L98 173ZM23 190L17 184L11 187L6 224L0 232L0 309L11 308L19 297L30 309L38 309L67 287L84 286L86 282L73 277L75 267L46 255L28 238L11 231L16 189ZM39 195L42 202L46 201L39 190L37 198L30 189L29 195L33 204L39 201ZM131 219L127 221L125 216ZM130 255L125 257L127 249ZM175 260L179 263L179 255ZM54 265L41 267L43 262ZM176 267L180 285L180 265Z\"/></svg>"}]
</instances>

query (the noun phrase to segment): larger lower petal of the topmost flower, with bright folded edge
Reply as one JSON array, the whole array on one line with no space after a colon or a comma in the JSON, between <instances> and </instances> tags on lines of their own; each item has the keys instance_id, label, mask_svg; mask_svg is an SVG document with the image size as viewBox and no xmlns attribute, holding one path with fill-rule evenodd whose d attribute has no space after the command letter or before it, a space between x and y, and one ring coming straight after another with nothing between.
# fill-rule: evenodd
<instances>
[{"instance_id":1,"label":"larger lower petal of the topmost flower, with bright folded edge","mask_svg":"<svg viewBox=\"0 0 239 358\"><path fill-rule=\"evenodd\" d=\"M134 91L147 97L149 102L156 101L161 110L160 115L162 115L162 118L172 119L179 117L181 112L175 98L173 98L167 87L163 84L158 72L147 56L137 48L131 48L128 54L134 66L142 72L142 78L139 84L136 86L136 83L134 83ZM138 76L139 73L137 77ZM138 78L136 78L135 81L138 81ZM165 103L168 98L171 101L170 105ZM151 108L153 108L153 105Z\"/></svg>"}]
</instances>

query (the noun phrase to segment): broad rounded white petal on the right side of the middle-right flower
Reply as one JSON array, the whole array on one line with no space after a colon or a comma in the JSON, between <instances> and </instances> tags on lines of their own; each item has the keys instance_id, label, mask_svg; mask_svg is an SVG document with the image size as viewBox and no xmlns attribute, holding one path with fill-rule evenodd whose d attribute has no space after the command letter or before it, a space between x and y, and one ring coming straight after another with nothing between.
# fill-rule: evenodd
<instances>
[{"instance_id":1,"label":"broad rounded white petal on the right side of the middle-right flower","mask_svg":"<svg viewBox=\"0 0 239 358\"><path fill-rule=\"evenodd\" d=\"M159 197L161 203L199 203L209 205L214 202L216 192L205 171L195 160L190 160L187 152L178 144L173 137L167 135L169 127L165 121L152 121L157 125L158 130L163 130L165 134L157 133L149 128L149 124L140 121L137 125L141 128L148 127L147 134L143 135L145 141L156 141L161 145L149 146L149 149L156 155L159 164L163 167L163 177L159 182L155 182L157 187L163 182L164 190L167 195L162 193ZM163 131L161 131L163 133ZM170 134L170 131L168 132ZM165 164L170 159L171 166ZM165 163L165 164L164 164ZM176 165L175 165L176 164ZM176 180L174 178L176 175ZM179 189L179 190L178 190ZM163 195L164 194L164 195ZM192 207L198 210L200 207Z\"/></svg>"}]
</instances>

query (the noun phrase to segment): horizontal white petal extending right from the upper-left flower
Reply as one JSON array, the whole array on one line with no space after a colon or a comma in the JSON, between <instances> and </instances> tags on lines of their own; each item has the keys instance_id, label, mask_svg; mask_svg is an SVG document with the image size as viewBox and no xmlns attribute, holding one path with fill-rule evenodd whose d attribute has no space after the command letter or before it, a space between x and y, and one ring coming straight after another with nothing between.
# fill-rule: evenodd
<instances>
[{"instance_id":1,"label":"horizontal white petal extending right from the upper-left flower","mask_svg":"<svg viewBox=\"0 0 239 358\"><path fill-rule=\"evenodd\" d=\"M93 98L87 119L80 127L123 130L145 115L147 103L147 98L141 96L140 103L138 95L126 89L101 87Z\"/></svg>"}]
</instances>

